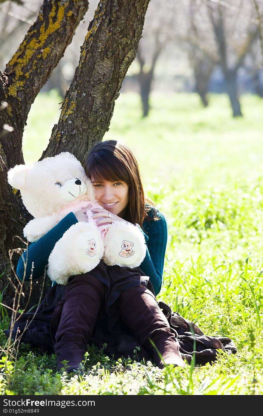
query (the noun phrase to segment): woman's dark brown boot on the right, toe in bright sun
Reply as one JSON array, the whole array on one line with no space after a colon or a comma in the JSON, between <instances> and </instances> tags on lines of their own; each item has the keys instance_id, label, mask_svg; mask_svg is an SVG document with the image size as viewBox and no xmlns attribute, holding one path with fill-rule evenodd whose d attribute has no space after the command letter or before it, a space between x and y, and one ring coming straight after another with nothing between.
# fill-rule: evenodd
<instances>
[{"instance_id":1,"label":"woman's dark brown boot on the right, toe in bright sun","mask_svg":"<svg viewBox=\"0 0 263 416\"><path fill-rule=\"evenodd\" d=\"M179 352L179 342L150 290L144 286L126 290L119 297L118 308L122 321L132 330L140 344L151 350L153 361L158 367L163 368L165 364L185 366Z\"/></svg>"}]
</instances>

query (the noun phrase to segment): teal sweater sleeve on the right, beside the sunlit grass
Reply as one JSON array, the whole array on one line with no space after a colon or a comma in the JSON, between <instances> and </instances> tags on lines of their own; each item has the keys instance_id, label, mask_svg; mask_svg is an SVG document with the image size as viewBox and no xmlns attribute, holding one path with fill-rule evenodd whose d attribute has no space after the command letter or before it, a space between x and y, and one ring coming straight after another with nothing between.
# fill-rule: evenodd
<instances>
[{"instance_id":1,"label":"teal sweater sleeve on the right, beside the sunlit grass","mask_svg":"<svg viewBox=\"0 0 263 416\"><path fill-rule=\"evenodd\" d=\"M146 241L146 256L140 265L140 269L145 275L150 277L150 282L157 295L162 287L162 273L165 262L165 250L167 245L167 221L160 213L157 212L160 218L157 221L150 221L147 225L147 240ZM145 233L144 233L145 234Z\"/></svg>"}]
</instances>

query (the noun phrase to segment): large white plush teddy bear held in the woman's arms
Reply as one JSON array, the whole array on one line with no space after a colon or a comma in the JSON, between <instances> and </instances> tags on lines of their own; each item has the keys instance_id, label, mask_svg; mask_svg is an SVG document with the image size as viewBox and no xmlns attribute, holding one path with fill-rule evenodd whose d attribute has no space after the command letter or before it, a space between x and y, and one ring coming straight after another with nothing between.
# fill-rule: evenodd
<instances>
[{"instance_id":1,"label":"large white plush teddy bear held in the woman's arms","mask_svg":"<svg viewBox=\"0 0 263 416\"><path fill-rule=\"evenodd\" d=\"M51 280L66 284L69 276L91 271L102 258L107 265L128 267L139 266L145 258L145 239L138 227L120 221L98 226L93 220L92 208L103 207L96 202L91 181L73 154L63 152L31 166L16 165L7 178L20 190L25 207L34 216L24 228L30 242L68 213L87 208L88 221L72 225L51 252L47 269ZM124 245L129 255L124 255Z\"/></svg>"}]
</instances>

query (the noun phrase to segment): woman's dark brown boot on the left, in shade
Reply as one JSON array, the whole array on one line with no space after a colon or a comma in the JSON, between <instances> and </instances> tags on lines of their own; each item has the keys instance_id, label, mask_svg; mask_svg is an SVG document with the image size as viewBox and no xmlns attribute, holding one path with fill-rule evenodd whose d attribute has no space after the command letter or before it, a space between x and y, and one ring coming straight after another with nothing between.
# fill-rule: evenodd
<instances>
[{"instance_id":1,"label":"woman's dark brown boot on the left, in shade","mask_svg":"<svg viewBox=\"0 0 263 416\"><path fill-rule=\"evenodd\" d=\"M67 292L52 316L58 371L65 367L70 373L84 360L103 295L104 285L96 277L86 273L71 278ZM64 360L66 366L61 363Z\"/></svg>"}]
</instances>

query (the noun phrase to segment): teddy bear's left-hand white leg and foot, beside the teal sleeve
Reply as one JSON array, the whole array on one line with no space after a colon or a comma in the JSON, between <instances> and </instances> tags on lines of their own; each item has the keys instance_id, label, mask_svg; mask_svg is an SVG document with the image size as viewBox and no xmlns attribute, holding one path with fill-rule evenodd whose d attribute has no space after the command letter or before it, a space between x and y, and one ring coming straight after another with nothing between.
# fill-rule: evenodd
<instances>
[{"instance_id":1,"label":"teddy bear's left-hand white leg and foot, beside the teal sleeve","mask_svg":"<svg viewBox=\"0 0 263 416\"><path fill-rule=\"evenodd\" d=\"M70 276L94 269L103 252L103 239L95 224L71 225L49 255L47 274L51 280L66 284Z\"/></svg>"}]
</instances>

